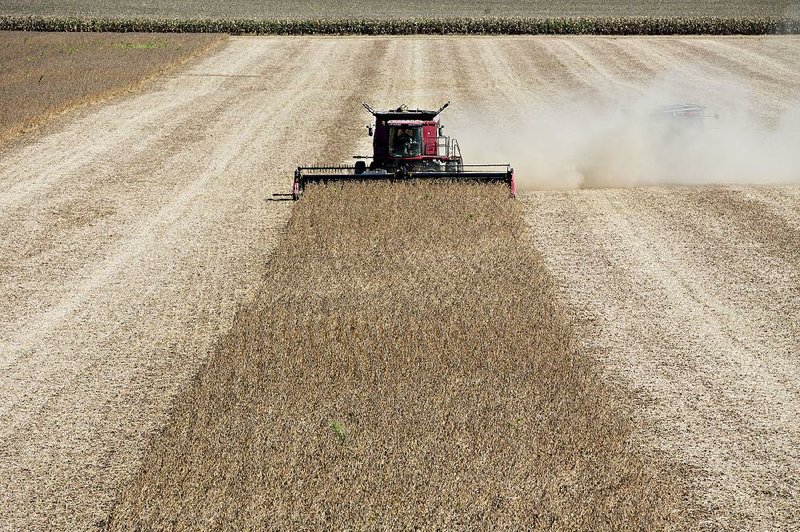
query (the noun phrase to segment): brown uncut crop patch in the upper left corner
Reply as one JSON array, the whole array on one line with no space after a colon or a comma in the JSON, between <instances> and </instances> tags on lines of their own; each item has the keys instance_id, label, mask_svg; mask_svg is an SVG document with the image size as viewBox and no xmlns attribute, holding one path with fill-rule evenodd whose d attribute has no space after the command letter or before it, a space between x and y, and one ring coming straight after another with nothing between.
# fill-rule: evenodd
<instances>
[{"instance_id":1,"label":"brown uncut crop patch in the upper left corner","mask_svg":"<svg viewBox=\"0 0 800 532\"><path fill-rule=\"evenodd\" d=\"M223 35L0 32L0 139L129 90Z\"/></svg>"}]
</instances>

